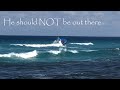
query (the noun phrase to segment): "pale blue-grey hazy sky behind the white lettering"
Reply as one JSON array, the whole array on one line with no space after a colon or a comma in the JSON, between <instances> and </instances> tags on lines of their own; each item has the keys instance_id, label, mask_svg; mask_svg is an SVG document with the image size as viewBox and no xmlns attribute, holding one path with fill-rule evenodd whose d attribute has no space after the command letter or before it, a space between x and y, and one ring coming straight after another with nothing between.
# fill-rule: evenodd
<instances>
[{"instance_id":1,"label":"pale blue-grey hazy sky behind the white lettering","mask_svg":"<svg viewBox=\"0 0 120 90\"><path fill-rule=\"evenodd\" d=\"M120 11L0 11L0 35L120 37Z\"/></svg>"}]
</instances>

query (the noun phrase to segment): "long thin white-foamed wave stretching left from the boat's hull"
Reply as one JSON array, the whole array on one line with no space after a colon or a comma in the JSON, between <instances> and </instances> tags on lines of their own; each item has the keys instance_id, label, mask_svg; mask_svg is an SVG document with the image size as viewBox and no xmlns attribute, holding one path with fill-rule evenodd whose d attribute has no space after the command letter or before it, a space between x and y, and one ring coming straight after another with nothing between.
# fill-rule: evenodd
<instances>
[{"instance_id":1,"label":"long thin white-foamed wave stretching left from the boat's hull","mask_svg":"<svg viewBox=\"0 0 120 90\"><path fill-rule=\"evenodd\" d=\"M10 44L10 45L26 47L65 47L62 44Z\"/></svg>"}]
</instances>

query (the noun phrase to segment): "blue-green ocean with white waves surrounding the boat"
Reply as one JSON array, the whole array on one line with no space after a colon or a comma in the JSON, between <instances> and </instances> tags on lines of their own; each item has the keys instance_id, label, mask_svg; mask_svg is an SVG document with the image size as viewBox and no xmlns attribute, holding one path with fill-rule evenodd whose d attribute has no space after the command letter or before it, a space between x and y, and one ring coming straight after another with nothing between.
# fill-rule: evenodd
<instances>
[{"instance_id":1,"label":"blue-green ocean with white waves surrounding the boat","mask_svg":"<svg viewBox=\"0 0 120 90\"><path fill-rule=\"evenodd\" d=\"M0 36L0 79L120 79L120 37Z\"/></svg>"}]
</instances>

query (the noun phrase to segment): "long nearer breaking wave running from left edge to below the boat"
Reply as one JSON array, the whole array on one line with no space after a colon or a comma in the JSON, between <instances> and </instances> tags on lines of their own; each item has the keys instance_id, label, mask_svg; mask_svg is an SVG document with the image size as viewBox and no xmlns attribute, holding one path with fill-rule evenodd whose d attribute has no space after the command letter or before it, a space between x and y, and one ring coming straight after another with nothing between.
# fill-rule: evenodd
<instances>
[{"instance_id":1,"label":"long nearer breaking wave running from left edge to below the boat","mask_svg":"<svg viewBox=\"0 0 120 90\"><path fill-rule=\"evenodd\" d=\"M48 54L52 54L52 55L59 55L61 53L64 53L64 55L73 55L73 54L79 54L80 52L93 52L93 51L98 51L98 50L69 50L66 48L59 48L59 50L47 50L47 51L31 51L31 52L21 52L21 53L15 53L15 52L11 52L8 54L0 54L0 57L2 58L23 58L23 59L30 59L30 58L34 58L36 56L38 56L37 58L41 58L41 57L45 57L45 58L49 58L47 57ZM50 55L50 56L52 56ZM40 56L40 57L39 57Z\"/></svg>"}]
</instances>

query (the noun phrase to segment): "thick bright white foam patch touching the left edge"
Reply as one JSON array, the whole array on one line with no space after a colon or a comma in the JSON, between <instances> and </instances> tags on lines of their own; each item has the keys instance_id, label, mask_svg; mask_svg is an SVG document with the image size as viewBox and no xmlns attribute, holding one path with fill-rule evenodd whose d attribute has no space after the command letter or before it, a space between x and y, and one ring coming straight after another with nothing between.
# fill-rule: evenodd
<instances>
[{"instance_id":1,"label":"thick bright white foam patch touching the left edge","mask_svg":"<svg viewBox=\"0 0 120 90\"><path fill-rule=\"evenodd\" d=\"M0 57L20 57L20 58L24 58L24 59L28 59L28 58L32 58L37 56L38 53L36 50L32 51L32 52L27 52L27 53L8 53L8 54L0 54Z\"/></svg>"}]
</instances>

